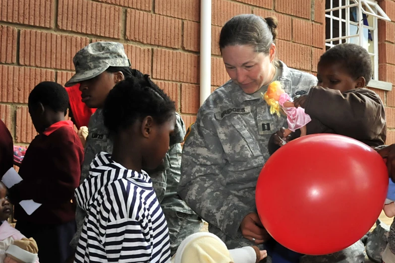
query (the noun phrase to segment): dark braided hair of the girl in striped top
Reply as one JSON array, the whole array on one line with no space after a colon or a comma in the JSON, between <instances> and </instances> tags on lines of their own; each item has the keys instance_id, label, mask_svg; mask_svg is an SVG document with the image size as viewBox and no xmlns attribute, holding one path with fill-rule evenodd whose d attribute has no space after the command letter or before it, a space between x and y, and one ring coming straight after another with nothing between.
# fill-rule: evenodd
<instances>
[{"instance_id":1,"label":"dark braided hair of the girl in striped top","mask_svg":"<svg viewBox=\"0 0 395 263\"><path fill-rule=\"evenodd\" d=\"M103 107L104 125L110 133L118 133L146 116L152 116L161 124L175 111L174 101L148 75L132 76L119 82L108 93Z\"/></svg>"}]
</instances>

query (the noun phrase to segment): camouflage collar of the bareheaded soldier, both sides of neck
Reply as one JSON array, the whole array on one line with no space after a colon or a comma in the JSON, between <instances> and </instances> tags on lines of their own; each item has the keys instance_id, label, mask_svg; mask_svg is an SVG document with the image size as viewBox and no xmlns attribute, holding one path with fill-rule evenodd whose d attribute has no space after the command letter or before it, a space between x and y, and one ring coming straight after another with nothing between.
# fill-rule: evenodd
<instances>
[{"instance_id":1,"label":"camouflage collar of the bareheaded soldier, both sides of neck","mask_svg":"<svg viewBox=\"0 0 395 263\"><path fill-rule=\"evenodd\" d=\"M283 84L283 89L285 90L285 92L287 92L288 94L291 94L292 82L291 82L290 69L287 67L287 65L283 61L278 60L278 63L280 64L280 68L281 68L282 72L281 72L281 75L278 76L277 80L279 82L281 82L281 84ZM237 85L236 83L234 83L232 80L230 80L230 82L232 82L232 87L233 87L232 100L236 106L239 106L240 104L242 104L245 101L259 100L259 98L256 98L252 95L245 93L240 88L240 86Z\"/></svg>"}]
</instances>

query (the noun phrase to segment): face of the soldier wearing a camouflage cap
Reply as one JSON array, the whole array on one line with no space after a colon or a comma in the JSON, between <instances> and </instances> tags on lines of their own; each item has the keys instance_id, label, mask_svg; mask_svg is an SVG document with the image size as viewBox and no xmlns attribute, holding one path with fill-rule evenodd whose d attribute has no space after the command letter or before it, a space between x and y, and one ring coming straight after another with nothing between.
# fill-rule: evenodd
<instances>
[{"instance_id":1,"label":"face of the soldier wearing a camouflage cap","mask_svg":"<svg viewBox=\"0 0 395 263\"><path fill-rule=\"evenodd\" d=\"M81 98L89 108L102 108L105 98L116 81L114 74L103 72L93 79L80 83Z\"/></svg>"}]
</instances>

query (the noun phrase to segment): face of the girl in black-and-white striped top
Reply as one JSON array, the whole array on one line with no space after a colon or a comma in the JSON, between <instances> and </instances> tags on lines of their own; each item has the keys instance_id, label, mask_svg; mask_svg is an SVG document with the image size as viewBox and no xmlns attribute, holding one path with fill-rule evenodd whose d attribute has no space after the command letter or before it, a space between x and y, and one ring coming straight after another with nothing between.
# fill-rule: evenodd
<instances>
[{"instance_id":1,"label":"face of the girl in black-and-white striped top","mask_svg":"<svg viewBox=\"0 0 395 263\"><path fill-rule=\"evenodd\" d=\"M155 169L160 165L170 147L170 136L176 127L176 114L160 125L153 125L150 140L146 144L145 169Z\"/></svg>"}]
</instances>

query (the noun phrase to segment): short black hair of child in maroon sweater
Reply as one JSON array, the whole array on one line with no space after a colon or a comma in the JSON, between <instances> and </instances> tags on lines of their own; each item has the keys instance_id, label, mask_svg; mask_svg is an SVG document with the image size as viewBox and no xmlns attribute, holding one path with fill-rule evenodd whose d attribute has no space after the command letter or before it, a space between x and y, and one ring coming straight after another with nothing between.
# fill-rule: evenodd
<instances>
[{"instance_id":1,"label":"short black hair of child in maroon sweater","mask_svg":"<svg viewBox=\"0 0 395 263\"><path fill-rule=\"evenodd\" d=\"M69 95L62 85L44 81L35 86L29 95L29 106L37 106L39 102L55 112L64 112L66 116L69 107Z\"/></svg>"}]
</instances>

